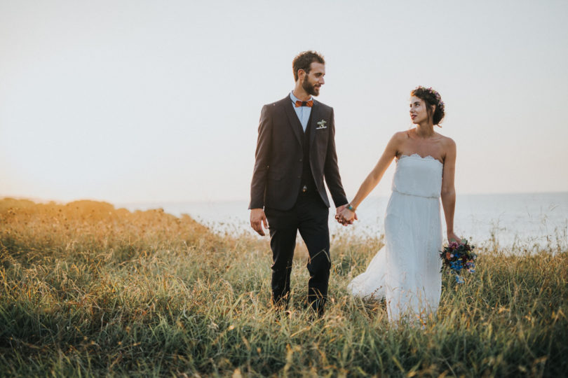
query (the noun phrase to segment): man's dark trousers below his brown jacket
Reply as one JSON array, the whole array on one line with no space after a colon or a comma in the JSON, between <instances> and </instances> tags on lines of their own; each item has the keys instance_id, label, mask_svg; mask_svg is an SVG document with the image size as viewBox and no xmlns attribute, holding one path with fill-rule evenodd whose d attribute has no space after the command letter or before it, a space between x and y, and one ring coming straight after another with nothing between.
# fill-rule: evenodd
<instances>
[{"instance_id":1,"label":"man's dark trousers below his brown jacket","mask_svg":"<svg viewBox=\"0 0 568 378\"><path fill-rule=\"evenodd\" d=\"M314 191L300 193L295 206L290 210L265 209L273 260L273 304L288 304L292 258L299 231L309 253L308 302L318 314L323 314L331 268L330 230L327 225L329 213L329 209Z\"/></svg>"}]
</instances>

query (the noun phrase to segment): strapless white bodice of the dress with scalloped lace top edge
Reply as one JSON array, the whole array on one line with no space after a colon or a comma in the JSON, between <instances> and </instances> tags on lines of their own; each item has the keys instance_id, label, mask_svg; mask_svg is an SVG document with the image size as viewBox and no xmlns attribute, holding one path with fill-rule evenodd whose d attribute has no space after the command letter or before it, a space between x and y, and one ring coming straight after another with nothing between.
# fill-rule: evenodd
<instances>
[{"instance_id":1,"label":"strapless white bodice of the dress with scalloped lace top edge","mask_svg":"<svg viewBox=\"0 0 568 378\"><path fill-rule=\"evenodd\" d=\"M417 153L402 155L396 161L392 189L394 192L419 197L440 197L442 169L444 165L431 157L422 158Z\"/></svg>"}]
</instances>

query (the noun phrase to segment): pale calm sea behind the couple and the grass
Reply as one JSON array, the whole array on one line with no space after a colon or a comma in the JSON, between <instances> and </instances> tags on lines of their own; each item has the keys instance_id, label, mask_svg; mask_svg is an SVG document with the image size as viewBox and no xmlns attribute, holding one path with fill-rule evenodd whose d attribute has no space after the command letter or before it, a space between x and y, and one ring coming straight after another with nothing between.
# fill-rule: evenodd
<instances>
[{"instance_id":1,"label":"pale calm sea behind the couple and the grass","mask_svg":"<svg viewBox=\"0 0 568 378\"><path fill-rule=\"evenodd\" d=\"M387 203L388 197L368 197L357 211L359 221L348 227L339 225L333 218L334 211L330 209L331 235L381 237ZM188 214L222 235L255 235L250 228L250 213L245 200L115 205L130 211L163 209L175 216ZM441 218L445 235L443 213ZM550 248L553 251L566 251L568 192L458 195L454 231L472 244L487 248Z\"/></svg>"}]
</instances>

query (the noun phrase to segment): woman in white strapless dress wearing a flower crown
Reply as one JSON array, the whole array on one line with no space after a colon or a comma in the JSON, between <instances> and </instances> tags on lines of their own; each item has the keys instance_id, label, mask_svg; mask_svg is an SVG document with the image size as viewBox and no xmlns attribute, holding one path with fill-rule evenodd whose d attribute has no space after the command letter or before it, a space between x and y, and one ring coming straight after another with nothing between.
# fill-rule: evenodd
<instances>
[{"instance_id":1,"label":"woman in white strapless dress wearing a flower crown","mask_svg":"<svg viewBox=\"0 0 568 378\"><path fill-rule=\"evenodd\" d=\"M440 302L440 197L447 239L460 240L454 234L456 144L434 131L445 114L440 94L417 87L410 95L410 118L416 127L393 135L351 204L336 218L344 225L353 223L358 205L396 159L384 220L385 246L348 289L358 297L385 298L389 321L417 318L424 323Z\"/></svg>"}]
</instances>

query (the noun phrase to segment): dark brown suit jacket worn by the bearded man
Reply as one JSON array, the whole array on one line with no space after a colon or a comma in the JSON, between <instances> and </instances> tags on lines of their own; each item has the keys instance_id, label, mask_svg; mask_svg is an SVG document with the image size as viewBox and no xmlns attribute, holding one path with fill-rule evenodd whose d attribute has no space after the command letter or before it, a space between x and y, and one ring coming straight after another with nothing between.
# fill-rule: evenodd
<instances>
[{"instance_id":1,"label":"dark brown suit jacket worn by the bearded man","mask_svg":"<svg viewBox=\"0 0 568 378\"><path fill-rule=\"evenodd\" d=\"M323 202L330 207L323 179L335 207L346 204L335 152L333 109L316 100L311 109L310 167ZM252 172L249 209L291 209L302 177L304 130L290 95L264 105L258 127L255 169Z\"/></svg>"}]
</instances>

